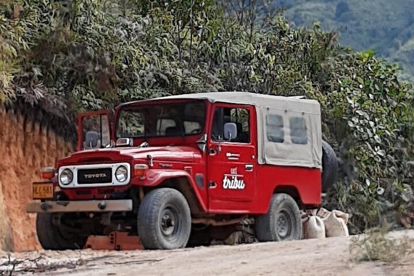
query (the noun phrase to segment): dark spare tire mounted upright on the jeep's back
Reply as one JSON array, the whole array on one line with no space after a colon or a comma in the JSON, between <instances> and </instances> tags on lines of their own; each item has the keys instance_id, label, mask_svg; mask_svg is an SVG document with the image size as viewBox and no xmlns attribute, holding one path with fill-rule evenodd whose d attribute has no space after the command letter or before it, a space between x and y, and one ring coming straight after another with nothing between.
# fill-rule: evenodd
<instances>
[{"instance_id":1,"label":"dark spare tire mounted upright on the jeep's back","mask_svg":"<svg viewBox=\"0 0 414 276\"><path fill-rule=\"evenodd\" d=\"M338 159L332 147L322 140L322 192L327 192L335 183Z\"/></svg>"}]
</instances>

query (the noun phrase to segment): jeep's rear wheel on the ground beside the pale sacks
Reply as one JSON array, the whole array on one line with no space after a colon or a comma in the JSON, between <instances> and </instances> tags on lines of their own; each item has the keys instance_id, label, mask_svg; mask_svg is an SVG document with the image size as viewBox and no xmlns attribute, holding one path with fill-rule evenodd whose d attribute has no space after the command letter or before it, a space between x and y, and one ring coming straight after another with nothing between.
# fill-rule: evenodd
<instances>
[{"instance_id":1,"label":"jeep's rear wheel on the ground beside the pale sacks","mask_svg":"<svg viewBox=\"0 0 414 276\"><path fill-rule=\"evenodd\" d=\"M301 239L302 220L295 200L286 193L273 194L269 211L256 217L255 228L262 242Z\"/></svg>"}]
</instances>

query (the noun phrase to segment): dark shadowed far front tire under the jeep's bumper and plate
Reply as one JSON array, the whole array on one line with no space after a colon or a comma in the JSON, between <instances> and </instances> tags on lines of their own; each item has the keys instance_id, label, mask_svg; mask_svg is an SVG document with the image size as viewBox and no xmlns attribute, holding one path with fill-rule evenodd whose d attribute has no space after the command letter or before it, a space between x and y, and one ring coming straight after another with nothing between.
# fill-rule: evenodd
<instances>
[{"instance_id":1,"label":"dark shadowed far front tire under the jeep's bumper and plate","mask_svg":"<svg viewBox=\"0 0 414 276\"><path fill-rule=\"evenodd\" d=\"M36 232L41 247L45 250L76 250L83 249L87 236L63 232L53 224L52 213L38 213L36 217Z\"/></svg>"}]
</instances>

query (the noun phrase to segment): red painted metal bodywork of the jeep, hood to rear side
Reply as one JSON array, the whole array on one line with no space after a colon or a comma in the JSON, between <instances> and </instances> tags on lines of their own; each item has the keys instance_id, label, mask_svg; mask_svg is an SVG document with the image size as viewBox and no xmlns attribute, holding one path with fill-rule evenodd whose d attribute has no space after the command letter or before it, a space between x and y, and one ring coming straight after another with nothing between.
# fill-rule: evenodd
<instances>
[{"instance_id":1,"label":"red painted metal bodywork of the jeep, hood to rear side","mask_svg":"<svg viewBox=\"0 0 414 276\"><path fill-rule=\"evenodd\" d=\"M156 187L166 179L186 177L204 212L221 214L266 213L272 194L281 187L296 191L299 195L299 201L303 205L320 205L320 169L258 164L257 119L254 106L213 105L209 102L206 104L206 124L203 131L203 133L207 133L208 137L206 152L202 152L196 143L201 135L150 138L147 139L150 147L146 148L137 147L144 139L134 139L135 147L133 148L78 151L60 160L58 166L122 161L130 163L133 168L137 163L149 165L147 156L150 155L153 167L149 169L145 179L132 175L130 185ZM134 105L137 104L134 103ZM210 140L213 108L218 105L240 106L249 110L250 142L248 144L218 143ZM114 122L116 122L118 112L119 109L116 111ZM93 114L97 113L102 114L102 112L94 112ZM82 133L82 129L80 129L80 133ZM111 134L113 133L114 129L111 131ZM218 148L220 150L217 151ZM210 150L216 152L210 154ZM204 176L203 185L197 185L197 174ZM71 200L82 200L104 198L108 194L105 193L105 190L125 191L128 186L62 189L62 191Z\"/></svg>"}]
</instances>

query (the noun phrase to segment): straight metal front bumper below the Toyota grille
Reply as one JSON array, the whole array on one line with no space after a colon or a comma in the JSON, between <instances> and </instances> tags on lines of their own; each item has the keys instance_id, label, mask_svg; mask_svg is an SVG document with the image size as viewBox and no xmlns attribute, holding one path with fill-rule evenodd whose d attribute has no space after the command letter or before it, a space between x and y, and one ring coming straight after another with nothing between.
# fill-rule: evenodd
<instances>
[{"instance_id":1,"label":"straight metal front bumper below the Toyota grille","mask_svg":"<svg viewBox=\"0 0 414 276\"><path fill-rule=\"evenodd\" d=\"M52 212L127 212L132 211L132 199L30 202L28 213Z\"/></svg>"}]
</instances>

